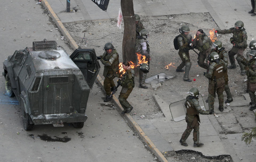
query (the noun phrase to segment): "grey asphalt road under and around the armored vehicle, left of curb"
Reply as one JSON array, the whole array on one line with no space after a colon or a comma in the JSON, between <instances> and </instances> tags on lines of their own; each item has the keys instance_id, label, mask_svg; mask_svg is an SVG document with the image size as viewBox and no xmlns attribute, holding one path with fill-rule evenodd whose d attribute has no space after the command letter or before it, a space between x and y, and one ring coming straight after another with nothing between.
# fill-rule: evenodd
<instances>
[{"instance_id":1,"label":"grey asphalt road under and around the armored vehicle, left of curb","mask_svg":"<svg viewBox=\"0 0 256 162\"><path fill-rule=\"evenodd\" d=\"M51 18L34 0L4 1L0 10L1 62L15 50L32 47L33 41L55 40L68 54L73 52L61 40ZM50 24L51 23L51 24ZM52 30L52 32L51 32ZM91 90L82 129L35 125L25 131L22 108L8 98L0 76L0 161L153 161L137 135L121 115L103 102L97 84ZM2 102L1 102L2 101ZM128 131L130 130L130 132Z\"/></svg>"}]
</instances>

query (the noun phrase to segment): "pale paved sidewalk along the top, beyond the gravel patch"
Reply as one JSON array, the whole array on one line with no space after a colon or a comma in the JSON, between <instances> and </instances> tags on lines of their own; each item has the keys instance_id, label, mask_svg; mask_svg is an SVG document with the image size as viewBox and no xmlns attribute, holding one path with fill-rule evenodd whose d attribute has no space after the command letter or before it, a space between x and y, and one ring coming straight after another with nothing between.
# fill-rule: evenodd
<instances>
[{"instance_id":1,"label":"pale paved sidewalk along the top, beyond the gravel patch","mask_svg":"<svg viewBox=\"0 0 256 162\"><path fill-rule=\"evenodd\" d=\"M48 3L62 23L115 19L121 8L120 0L110 0L106 12L91 0L74 0L70 2L70 8L76 7L77 12L67 13L66 1L48 0ZM142 17L209 12L220 29L234 27L234 23L241 20L245 24L248 41L256 35L256 17L248 14L250 0L133 0L133 6L134 13ZM188 23L196 25L196 20L191 21Z\"/></svg>"}]
</instances>

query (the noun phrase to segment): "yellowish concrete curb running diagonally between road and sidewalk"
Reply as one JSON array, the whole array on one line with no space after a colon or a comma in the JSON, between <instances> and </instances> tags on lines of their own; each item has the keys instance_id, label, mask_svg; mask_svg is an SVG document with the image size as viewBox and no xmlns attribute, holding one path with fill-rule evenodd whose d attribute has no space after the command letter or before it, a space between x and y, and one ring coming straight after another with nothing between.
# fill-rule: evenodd
<instances>
[{"instance_id":1,"label":"yellowish concrete curb running diagonally between road and sidewalk","mask_svg":"<svg viewBox=\"0 0 256 162\"><path fill-rule=\"evenodd\" d=\"M42 5L48 10L49 15L51 16L51 18L53 19L53 21L56 23L56 25L58 26L59 30L61 31L61 33L63 34L63 36L66 38L66 40L69 42L69 45L73 48L73 50L78 48L77 43L74 41L74 39L71 37L71 35L69 34L69 32L67 31L67 29L64 27L64 25L62 24L61 20L59 19L59 17L57 16L57 14L55 14L55 12L53 11L53 8L51 8L51 6L49 5L49 3L47 2L47 0L42 0ZM97 76L97 82L99 83L99 85L103 88L103 78L100 77L99 75ZM104 88L103 88L104 89ZM123 108L121 106L121 104L119 103L118 98L113 95L113 100L114 103L116 104L117 108L119 111L123 111ZM133 119L133 117L131 117L130 114L125 113L124 118L128 121L128 123L133 127L133 129L138 133L139 137L141 139L143 139L143 141L146 143L146 145L150 148L150 150L155 154L155 156L157 156L157 158L161 161L161 162L168 162L168 160L163 156L163 154L158 150L158 148L154 145L154 143L149 139L149 137L143 132L143 130L141 129L141 127L135 122L135 120Z\"/></svg>"}]
</instances>

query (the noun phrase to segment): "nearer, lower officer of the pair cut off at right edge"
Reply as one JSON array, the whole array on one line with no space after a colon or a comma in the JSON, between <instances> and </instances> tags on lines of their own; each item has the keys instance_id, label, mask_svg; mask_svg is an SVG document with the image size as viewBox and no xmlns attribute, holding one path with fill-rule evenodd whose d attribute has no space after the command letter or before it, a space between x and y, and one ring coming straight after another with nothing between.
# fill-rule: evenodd
<instances>
[{"instance_id":1,"label":"nearer, lower officer of the pair cut off at right edge","mask_svg":"<svg viewBox=\"0 0 256 162\"><path fill-rule=\"evenodd\" d=\"M256 108L255 91L256 91L256 50L251 50L249 57L243 58L242 63L245 65L247 75L247 91L250 95L250 109Z\"/></svg>"}]
</instances>

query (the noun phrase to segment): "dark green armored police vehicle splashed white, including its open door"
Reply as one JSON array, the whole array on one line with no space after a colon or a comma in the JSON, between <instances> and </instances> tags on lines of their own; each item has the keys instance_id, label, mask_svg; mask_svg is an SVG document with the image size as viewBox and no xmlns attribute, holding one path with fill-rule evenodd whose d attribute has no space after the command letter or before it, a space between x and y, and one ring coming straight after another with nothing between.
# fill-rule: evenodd
<instances>
[{"instance_id":1,"label":"dark green armored police vehicle splashed white, including its open door","mask_svg":"<svg viewBox=\"0 0 256 162\"><path fill-rule=\"evenodd\" d=\"M33 42L3 62L6 95L23 108L23 126L63 122L82 128L86 104L99 72L94 49L76 49L70 56L55 41Z\"/></svg>"}]
</instances>

